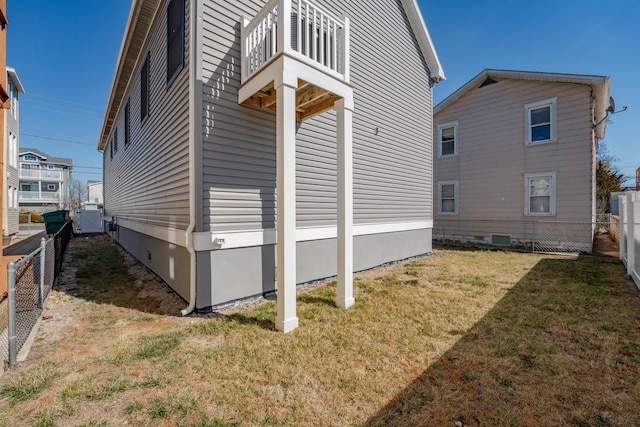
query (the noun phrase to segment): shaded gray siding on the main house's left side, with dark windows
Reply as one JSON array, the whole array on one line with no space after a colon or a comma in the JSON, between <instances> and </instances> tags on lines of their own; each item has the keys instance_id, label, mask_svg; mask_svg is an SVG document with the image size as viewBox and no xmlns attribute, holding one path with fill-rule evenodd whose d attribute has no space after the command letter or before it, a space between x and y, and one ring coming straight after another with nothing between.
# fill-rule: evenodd
<instances>
[{"instance_id":1,"label":"shaded gray siding on the main house's left side, with dark windows","mask_svg":"<svg viewBox=\"0 0 640 427\"><path fill-rule=\"evenodd\" d=\"M154 24L114 126L118 150L104 151L105 215L167 228L189 223L189 0L185 1L185 63L170 86L166 72L166 10ZM150 55L149 115L140 120L140 69ZM125 146L125 105L130 100L130 143Z\"/></svg>"}]
</instances>

